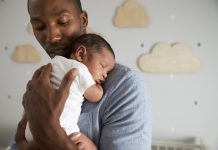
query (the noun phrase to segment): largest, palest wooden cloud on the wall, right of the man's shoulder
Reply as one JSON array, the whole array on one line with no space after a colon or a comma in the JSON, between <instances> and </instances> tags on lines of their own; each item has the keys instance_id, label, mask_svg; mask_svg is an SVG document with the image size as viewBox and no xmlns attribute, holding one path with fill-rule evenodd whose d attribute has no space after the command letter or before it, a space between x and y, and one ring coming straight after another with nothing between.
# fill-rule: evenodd
<instances>
[{"instance_id":1,"label":"largest, palest wooden cloud on the wall, right of the man's shoulder","mask_svg":"<svg viewBox=\"0 0 218 150\"><path fill-rule=\"evenodd\" d=\"M151 53L139 57L138 65L142 71L153 73L192 73L201 68L192 49L182 43L158 43Z\"/></svg>"}]
</instances>

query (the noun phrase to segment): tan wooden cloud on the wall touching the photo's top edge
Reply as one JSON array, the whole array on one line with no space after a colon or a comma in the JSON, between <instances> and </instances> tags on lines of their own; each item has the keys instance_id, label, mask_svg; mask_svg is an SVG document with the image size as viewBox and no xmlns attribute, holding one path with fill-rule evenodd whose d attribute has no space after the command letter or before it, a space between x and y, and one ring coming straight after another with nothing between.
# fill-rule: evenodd
<instances>
[{"instance_id":1,"label":"tan wooden cloud on the wall touching the photo's top edge","mask_svg":"<svg viewBox=\"0 0 218 150\"><path fill-rule=\"evenodd\" d=\"M117 8L114 18L117 27L146 27L149 25L149 17L143 5L136 0L127 0L123 6Z\"/></svg>"}]
</instances>

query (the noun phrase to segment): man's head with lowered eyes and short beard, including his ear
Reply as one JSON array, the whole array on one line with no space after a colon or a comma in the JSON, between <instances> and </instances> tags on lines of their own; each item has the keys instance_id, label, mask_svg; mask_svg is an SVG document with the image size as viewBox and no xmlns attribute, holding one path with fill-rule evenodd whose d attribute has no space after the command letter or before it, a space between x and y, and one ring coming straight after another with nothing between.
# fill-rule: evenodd
<instances>
[{"instance_id":1,"label":"man's head with lowered eyes and short beard, including his ear","mask_svg":"<svg viewBox=\"0 0 218 150\"><path fill-rule=\"evenodd\" d=\"M69 57L72 40L86 31L86 12L80 12L73 0L29 0L28 4L34 35L47 54Z\"/></svg>"}]
</instances>

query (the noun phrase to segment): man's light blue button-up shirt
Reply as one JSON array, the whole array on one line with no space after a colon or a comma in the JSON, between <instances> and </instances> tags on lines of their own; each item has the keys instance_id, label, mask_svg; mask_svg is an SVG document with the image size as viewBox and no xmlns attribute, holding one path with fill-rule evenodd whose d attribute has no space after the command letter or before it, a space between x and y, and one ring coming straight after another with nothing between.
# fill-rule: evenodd
<instances>
[{"instance_id":1,"label":"man's light blue button-up shirt","mask_svg":"<svg viewBox=\"0 0 218 150\"><path fill-rule=\"evenodd\" d=\"M99 150L151 149L151 103L144 85L137 71L116 64L101 101L83 103L78 125Z\"/></svg>"}]
</instances>

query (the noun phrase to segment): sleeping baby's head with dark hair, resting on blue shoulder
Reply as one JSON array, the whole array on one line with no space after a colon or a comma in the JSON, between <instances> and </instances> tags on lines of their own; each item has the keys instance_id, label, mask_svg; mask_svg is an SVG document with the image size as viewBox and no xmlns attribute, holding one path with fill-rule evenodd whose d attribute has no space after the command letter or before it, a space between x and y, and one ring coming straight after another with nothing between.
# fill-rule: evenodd
<instances>
[{"instance_id":1,"label":"sleeping baby's head with dark hair, resting on blue shoulder","mask_svg":"<svg viewBox=\"0 0 218 150\"><path fill-rule=\"evenodd\" d=\"M87 66L96 83L103 83L114 68L115 54L110 44L97 34L83 34L72 43L70 58Z\"/></svg>"}]
</instances>

